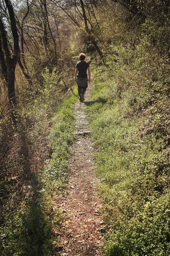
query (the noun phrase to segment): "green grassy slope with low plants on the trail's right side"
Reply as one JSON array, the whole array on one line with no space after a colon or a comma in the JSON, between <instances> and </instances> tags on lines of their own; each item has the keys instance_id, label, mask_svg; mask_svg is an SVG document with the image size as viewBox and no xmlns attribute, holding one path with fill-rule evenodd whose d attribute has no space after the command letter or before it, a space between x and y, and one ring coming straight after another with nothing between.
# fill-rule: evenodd
<instances>
[{"instance_id":1,"label":"green grassy slope with low plants on the trail's right side","mask_svg":"<svg viewBox=\"0 0 170 256\"><path fill-rule=\"evenodd\" d=\"M144 51L145 57L138 55ZM169 87L162 62L140 44L94 70L88 113L96 148L105 255L170 255ZM126 55L124 54L126 53ZM153 52L152 52L153 53ZM113 57L112 57L113 56ZM125 60L125 57L126 60ZM115 58L110 55L108 59ZM154 60L157 61L156 54ZM138 73L139 78L136 73ZM152 76L150 76L152 74ZM153 78L154 76L154 78ZM148 78L150 80L148 81Z\"/></svg>"}]
</instances>

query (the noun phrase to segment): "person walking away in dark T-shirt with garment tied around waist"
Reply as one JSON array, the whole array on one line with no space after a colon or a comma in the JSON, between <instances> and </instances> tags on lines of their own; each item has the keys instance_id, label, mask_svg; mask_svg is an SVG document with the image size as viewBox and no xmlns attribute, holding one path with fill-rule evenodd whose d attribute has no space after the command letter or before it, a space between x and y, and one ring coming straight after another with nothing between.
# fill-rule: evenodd
<instances>
[{"instance_id":1,"label":"person walking away in dark T-shirt with garment tied around waist","mask_svg":"<svg viewBox=\"0 0 170 256\"><path fill-rule=\"evenodd\" d=\"M84 95L85 91L88 87L88 82L91 82L91 71L88 62L85 61L85 54L79 54L79 62L76 64L75 72L74 72L74 81L77 82L78 86L78 94L79 100L82 102L85 100ZM87 75L88 70L88 75ZM77 74L78 73L78 74Z\"/></svg>"}]
</instances>

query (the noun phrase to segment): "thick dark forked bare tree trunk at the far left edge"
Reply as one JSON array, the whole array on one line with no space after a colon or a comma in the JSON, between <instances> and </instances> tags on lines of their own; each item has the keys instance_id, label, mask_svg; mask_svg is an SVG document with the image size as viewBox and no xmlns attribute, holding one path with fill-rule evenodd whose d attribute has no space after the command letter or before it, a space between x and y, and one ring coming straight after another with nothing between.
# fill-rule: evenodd
<instances>
[{"instance_id":1,"label":"thick dark forked bare tree trunk at the far left edge","mask_svg":"<svg viewBox=\"0 0 170 256\"><path fill-rule=\"evenodd\" d=\"M19 53L19 37L17 33L17 25L14 15L14 9L10 0L1 0L1 13L0 13L0 64L3 76L6 80L8 87L8 99L10 107L14 109L17 105L15 96L15 68ZM5 15L6 14L6 15ZM9 29L6 30L6 22L8 17ZM10 44L9 33L12 34L12 44ZM16 116L12 111L12 119L16 124Z\"/></svg>"}]
</instances>

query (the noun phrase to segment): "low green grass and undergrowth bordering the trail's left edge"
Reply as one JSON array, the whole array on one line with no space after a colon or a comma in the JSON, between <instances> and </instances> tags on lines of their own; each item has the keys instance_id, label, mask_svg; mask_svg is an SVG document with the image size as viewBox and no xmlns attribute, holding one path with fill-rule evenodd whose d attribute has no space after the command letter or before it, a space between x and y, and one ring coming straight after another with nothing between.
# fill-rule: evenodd
<instances>
[{"instance_id":1,"label":"low green grass and undergrowth bordering the trail's left edge","mask_svg":"<svg viewBox=\"0 0 170 256\"><path fill-rule=\"evenodd\" d=\"M4 201L6 215L0 228L2 256L53 256L58 252L53 231L59 229L62 212L56 200L68 181L68 158L74 141L72 104L76 99L73 88L72 96L55 109L46 146L49 159L40 172L32 173L29 185L24 185L23 200L17 202L18 195L11 193L8 201Z\"/></svg>"}]
</instances>

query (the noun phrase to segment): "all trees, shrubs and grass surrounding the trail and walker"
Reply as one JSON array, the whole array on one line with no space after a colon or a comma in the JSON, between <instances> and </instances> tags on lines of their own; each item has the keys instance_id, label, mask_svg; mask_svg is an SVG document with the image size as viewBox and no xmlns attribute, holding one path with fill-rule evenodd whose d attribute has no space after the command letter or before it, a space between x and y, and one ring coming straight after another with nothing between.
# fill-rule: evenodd
<instances>
[{"instance_id":1,"label":"all trees, shrubs and grass surrounding the trail and walker","mask_svg":"<svg viewBox=\"0 0 170 256\"><path fill-rule=\"evenodd\" d=\"M74 56L88 103L105 255L170 254L169 1L0 1L0 254L54 255L73 142Z\"/></svg>"}]
</instances>

